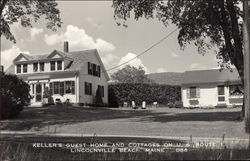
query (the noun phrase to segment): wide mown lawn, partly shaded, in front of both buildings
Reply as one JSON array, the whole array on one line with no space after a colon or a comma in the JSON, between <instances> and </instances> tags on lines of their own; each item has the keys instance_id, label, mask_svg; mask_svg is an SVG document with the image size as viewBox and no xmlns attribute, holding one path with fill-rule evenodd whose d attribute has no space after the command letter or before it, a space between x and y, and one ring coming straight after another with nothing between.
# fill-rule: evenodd
<instances>
[{"instance_id":1,"label":"wide mown lawn, partly shaded, in front of both buildings","mask_svg":"<svg viewBox=\"0 0 250 161\"><path fill-rule=\"evenodd\" d=\"M0 130L97 135L248 138L240 108L175 109L28 107Z\"/></svg>"}]
</instances>

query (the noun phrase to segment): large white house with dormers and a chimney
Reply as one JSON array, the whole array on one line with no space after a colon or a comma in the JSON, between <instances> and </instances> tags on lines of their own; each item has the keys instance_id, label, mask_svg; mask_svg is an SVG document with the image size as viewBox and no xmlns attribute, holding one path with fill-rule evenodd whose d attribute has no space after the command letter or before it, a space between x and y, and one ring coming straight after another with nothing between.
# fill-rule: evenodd
<instances>
[{"instance_id":1,"label":"large white house with dormers and a chimney","mask_svg":"<svg viewBox=\"0 0 250 161\"><path fill-rule=\"evenodd\" d=\"M30 85L31 103L43 101L46 87L54 101L72 103L93 103L99 88L103 102L108 103L109 76L96 49L69 52L68 42L64 42L64 52L21 53L6 73L16 74Z\"/></svg>"}]
</instances>

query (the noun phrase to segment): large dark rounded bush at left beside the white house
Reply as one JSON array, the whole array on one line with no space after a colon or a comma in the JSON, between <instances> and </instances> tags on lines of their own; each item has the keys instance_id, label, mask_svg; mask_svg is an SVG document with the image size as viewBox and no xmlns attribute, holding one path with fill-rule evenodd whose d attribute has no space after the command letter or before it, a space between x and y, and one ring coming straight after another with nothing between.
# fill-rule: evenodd
<instances>
[{"instance_id":1,"label":"large dark rounded bush at left beside the white house","mask_svg":"<svg viewBox=\"0 0 250 161\"><path fill-rule=\"evenodd\" d=\"M30 103L30 86L16 75L0 73L0 77L1 118L16 118Z\"/></svg>"}]
</instances>

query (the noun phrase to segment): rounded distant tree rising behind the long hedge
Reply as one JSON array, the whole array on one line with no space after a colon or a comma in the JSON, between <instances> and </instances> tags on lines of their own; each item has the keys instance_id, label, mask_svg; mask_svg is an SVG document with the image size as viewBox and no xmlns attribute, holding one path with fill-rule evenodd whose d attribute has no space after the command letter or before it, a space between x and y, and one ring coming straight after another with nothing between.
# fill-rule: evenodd
<instances>
[{"instance_id":1,"label":"rounded distant tree rising behind the long hedge","mask_svg":"<svg viewBox=\"0 0 250 161\"><path fill-rule=\"evenodd\" d=\"M126 65L124 68L118 70L111 75L113 80L117 80L120 83L152 83L145 75L145 70L141 66L138 68Z\"/></svg>"}]
</instances>

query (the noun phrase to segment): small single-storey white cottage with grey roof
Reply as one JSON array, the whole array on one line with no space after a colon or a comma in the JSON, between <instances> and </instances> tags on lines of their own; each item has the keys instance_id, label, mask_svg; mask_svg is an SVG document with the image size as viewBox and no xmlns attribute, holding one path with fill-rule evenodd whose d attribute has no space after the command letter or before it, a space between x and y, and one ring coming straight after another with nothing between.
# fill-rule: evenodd
<instances>
[{"instance_id":1,"label":"small single-storey white cottage with grey roof","mask_svg":"<svg viewBox=\"0 0 250 161\"><path fill-rule=\"evenodd\" d=\"M184 107L243 104L243 86L236 69L186 71L181 92Z\"/></svg>"}]
</instances>

